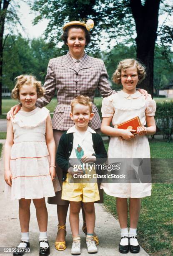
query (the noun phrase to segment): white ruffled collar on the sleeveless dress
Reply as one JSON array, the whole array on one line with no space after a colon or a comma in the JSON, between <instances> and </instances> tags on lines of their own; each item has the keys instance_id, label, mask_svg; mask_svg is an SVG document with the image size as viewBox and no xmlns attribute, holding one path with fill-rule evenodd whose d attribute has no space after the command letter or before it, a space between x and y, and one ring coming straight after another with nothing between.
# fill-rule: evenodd
<instances>
[{"instance_id":1,"label":"white ruffled collar on the sleeveless dress","mask_svg":"<svg viewBox=\"0 0 173 256\"><path fill-rule=\"evenodd\" d=\"M37 112L33 113L33 115L23 115L22 113L17 113L12 122L18 124L22 128L37 127L46 120L49 114L49 110L45 107L37 109ZM26 113L28 112L25 112L25 114Z\"/></svg>"}]
</instances>

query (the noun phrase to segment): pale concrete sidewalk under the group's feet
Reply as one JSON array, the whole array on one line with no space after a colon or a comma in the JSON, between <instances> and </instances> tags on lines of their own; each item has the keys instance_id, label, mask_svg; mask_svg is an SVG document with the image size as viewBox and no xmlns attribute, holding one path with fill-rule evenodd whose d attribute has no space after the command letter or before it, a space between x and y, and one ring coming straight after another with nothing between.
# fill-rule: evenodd
<instances>
[{"instance_id":1,"label":"pale concrete sidewalk under the group's feet","mask_svg":"<svg viewBox=\"0 0 173 256\"><path fill-rule=\"evenodd\" d=\"M3 156L3 154L2 154ZM4 197L4 174L3 174L3 157L0 159L0 247L16 247L20 241L20 223L18 218L18 201L8 201ZM54 247L54 241L57 233L57 213L56 205L48 207L48 239L50 243L50 255L71 255L70 249L72 244L72 236L69 224L69 216L67 219L67 249L65 251L57 251ZM39 255L39 230L36 220L35 207L33 202L30 207L30 249L29 256ZM120 226L117 220L103 207L103 205L95 204L96 224L95 232L97 233L100 244L97 247L97 256L122 256L118 251L120 241ZM80 215L80 236L81 236L81 256L89 255L86 249L85 235L82 232L82 216ZM6 254L0 254L6 255ZM11 255L11 254L10 254ZM27 255L27 254L25 254ZM128 253L133 255L133 253ZM147 256L148 254L140 248L139 256Z\"/></svg>"}]
</instances>

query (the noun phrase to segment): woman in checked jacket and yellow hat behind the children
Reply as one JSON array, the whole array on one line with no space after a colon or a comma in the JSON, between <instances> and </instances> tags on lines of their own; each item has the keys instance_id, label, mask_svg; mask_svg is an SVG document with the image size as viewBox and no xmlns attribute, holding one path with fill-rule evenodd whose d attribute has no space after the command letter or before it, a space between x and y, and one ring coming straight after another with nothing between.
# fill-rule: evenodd
<instances>
[{"instance_id":1,"label":"woman in checked jacket and yellow hat behind the children","mask_svg":"<svg viewBox=\"0 0 173 256\"><path fill-rule=\"evenodd\" d=\"M50 59L48 71L45 77L45 95L37 100L37 106L42 108L47 105L57 90L58 105L53 115L53 134L56 148L58 147L60 136L74 125L70 120L70 102L74 97L82 94L89 96L93 102L95 90L98 89L103 97L108 97L113 91L108 84L108 74L102 60L88 56L85 53L85 46L90 42L89 30L92 24L81 23L80 21L71 21L63 27L62 39L68 46L69 52L64 56ZM141 90L141 89L140 89ZM143 94L146 91L141 90ZM15 111L14 111L15 110ZM11 114L20 110L20 105L11 109ZM96 106L93 104L95 113L90 122L90 127L95 131L100 131L100 117ZM9 116L9 115L8 115ZM58 178L62 186L63 172L58 168ZM100 190L100 201L103 202L103 191ZM48 203L57 205L58 214L58 233L55 241L55 248L63 251L66 248L65 243L65 223L69 202L61 200L61 191L56 193L55 197L50 197ZM83 212L83 231L86 233L85 216ZM99 243L98 237L94 234L95 244Z\"/></svg>"}]
</instances>

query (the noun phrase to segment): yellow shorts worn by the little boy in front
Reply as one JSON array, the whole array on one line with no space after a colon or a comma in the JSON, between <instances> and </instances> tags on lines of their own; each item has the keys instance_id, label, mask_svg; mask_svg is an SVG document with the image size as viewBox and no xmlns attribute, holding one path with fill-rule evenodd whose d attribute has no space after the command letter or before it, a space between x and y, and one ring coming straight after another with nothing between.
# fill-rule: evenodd
<instances>
[{"instance_id":1,"label":"yellow shorts worn by the little boy in front","mask_svg":"<svg viewBox=\"0 0 173 256\"><path fill-rule=\"evenodd\" d=\"M100 200L97 183L83 183L85 179L80 179L81 183L70 183L73 179L71 174L67 174L67 179L63 182L62 199L74 202L95 202Z\"/></svg>"}]
</instances>

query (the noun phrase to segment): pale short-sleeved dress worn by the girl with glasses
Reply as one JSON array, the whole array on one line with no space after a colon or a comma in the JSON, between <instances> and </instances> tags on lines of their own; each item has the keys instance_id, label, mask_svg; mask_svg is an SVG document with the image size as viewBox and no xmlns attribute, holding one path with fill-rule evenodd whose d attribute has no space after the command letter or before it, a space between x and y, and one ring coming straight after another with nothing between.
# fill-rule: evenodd
<instances>
[{"instance_id":1,"label":"pale short-sleeved dress worn by the girl with glasses","mask_svg":"<svg viewBox=\"0 0 173 256\"><path fill-rule=\"evenodd\" d=\"M123 123L138 116L142 125L146 125L145 115L154 116L155 101L150 97L145 99L140 92L129 95L122 90L103 99L102 117L113 117L112 124ZM108 158L150 158L150 146L147 136L135 135L130 141L120 137L111 137L108 148ZM100 188L105 193L115 197L138 198L151 195L150 183L102 183Z\"/></svg>"}]
</instances>

